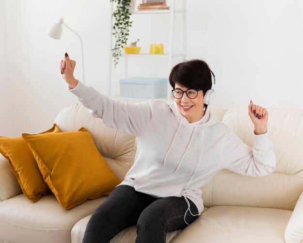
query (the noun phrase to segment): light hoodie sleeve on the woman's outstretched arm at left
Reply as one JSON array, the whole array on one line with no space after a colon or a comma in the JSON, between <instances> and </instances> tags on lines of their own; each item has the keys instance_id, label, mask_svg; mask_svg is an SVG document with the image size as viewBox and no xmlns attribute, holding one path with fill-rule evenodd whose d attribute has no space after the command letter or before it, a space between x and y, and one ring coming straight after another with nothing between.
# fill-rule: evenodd
<instances>
[{"instance_id":1,"label":"light hoodie sleeve on the woman's outstretched arm at left","mask_svg":"<svg viewBox=\"0 0 303 243\"><path fill-rule=\"evenodd\" d=\"M70 89L81 104L92 111L92 116L101 118L103 123L115 130L137 135L152 119L150 102L128 103L110 99L92 87L78 81Z\"/></svg>"}]
</instances>

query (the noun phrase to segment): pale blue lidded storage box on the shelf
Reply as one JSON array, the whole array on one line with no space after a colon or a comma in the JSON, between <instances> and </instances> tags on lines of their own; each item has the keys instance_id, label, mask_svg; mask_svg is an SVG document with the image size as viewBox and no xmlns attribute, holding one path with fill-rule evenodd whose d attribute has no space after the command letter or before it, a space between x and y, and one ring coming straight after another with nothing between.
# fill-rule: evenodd
<instances>
[{"instance_id":1,"label":"pale blue lidded storage box on the shelf","mask_svg":"<svg viewBox=\"0 0 303 243\"><path fill-rule=\"evenodd\" d=\"M167 96L165 78L125 78L120 80L120 96L134 98L160 98Z\"/></svg>"}]
</instances>

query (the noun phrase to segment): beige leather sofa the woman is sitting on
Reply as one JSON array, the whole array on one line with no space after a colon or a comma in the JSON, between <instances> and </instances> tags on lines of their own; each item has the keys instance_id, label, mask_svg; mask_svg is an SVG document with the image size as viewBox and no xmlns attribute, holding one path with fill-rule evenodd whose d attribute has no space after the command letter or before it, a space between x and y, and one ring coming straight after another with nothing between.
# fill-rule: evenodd
<instances>
[{"instance_id":1,"label":"beige leather sofa the woman is sitting on","mask_svg":"<svg viewBox=\"0 0 303 243\"><path fill-rule=\"evenodd\" d=\"M213 113L253 146L253 124L247 108ZM205 210L183 230L167 233L171 243L300 243L303 242L303 110L268 109L268 132L277 159L265 177L245 177L219 171L202 187ZM116 132L77 103L61 110L61 131L85 127L108 165L121 180L136 154L133 135ZM65 210L54 195L30 202L18 185L8 161L0 157L0 243L80 243L94 209L106 199L88 200ZM133 243L136 226L111 242Z\"/></svg>"}]
</instances>

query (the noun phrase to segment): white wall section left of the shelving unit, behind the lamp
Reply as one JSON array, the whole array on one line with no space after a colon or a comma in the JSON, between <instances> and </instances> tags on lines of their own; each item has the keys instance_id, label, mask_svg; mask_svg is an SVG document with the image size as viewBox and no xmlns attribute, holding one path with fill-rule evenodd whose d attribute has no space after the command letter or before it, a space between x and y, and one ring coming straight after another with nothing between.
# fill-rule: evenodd
<instances>
[{"instance_id":1,"label":"white wall section left of the shelving unit, behind the lamp","mask_svg":"<svg viewBox=\"0 0 303 243\"><path fill-rule=\"evenodd\" d=\"M38 133L51 128L61 108L78 101L61 78L59 63L65 52L77 61L76 77L82 77L78 37L65 28L61 40L55 40L46 34L46 29L62 16L82 36L86 83L103 90L108 68L109 1L4 0L4 3L12 87L7 102L13 109L8 119L14 127L8 135ZM0 134L3 133L6 130L1 119Z\"/></svg>"}]
</instances>

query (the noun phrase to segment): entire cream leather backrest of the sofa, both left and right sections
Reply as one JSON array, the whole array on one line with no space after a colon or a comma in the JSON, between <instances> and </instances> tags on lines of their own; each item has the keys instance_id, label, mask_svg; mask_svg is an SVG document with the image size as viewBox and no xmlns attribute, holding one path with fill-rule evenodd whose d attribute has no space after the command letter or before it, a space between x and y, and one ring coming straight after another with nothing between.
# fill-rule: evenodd
<instances>
[{"instance_id":1,"label":"entire cream leather backrest of the sofa, both left and right sections","mask_svg":"<svg viewBox=\"0 0 303 243\"><path fill-rule=\"evenodd\" d=\"M225 110L210 107L242 141L253 147L253 130L247 108ZM303 191L303 110L268 109L268 132L273 141L277 165L272 175L246 177L229 170L218 171L201 188L205 207L218 205L251 206L293 210ZM55 119L61 131L85 127L109 167L123 180L133 165L136 138L106 127L80 103L65 107Z\"/></svg>"}]
</instances>

